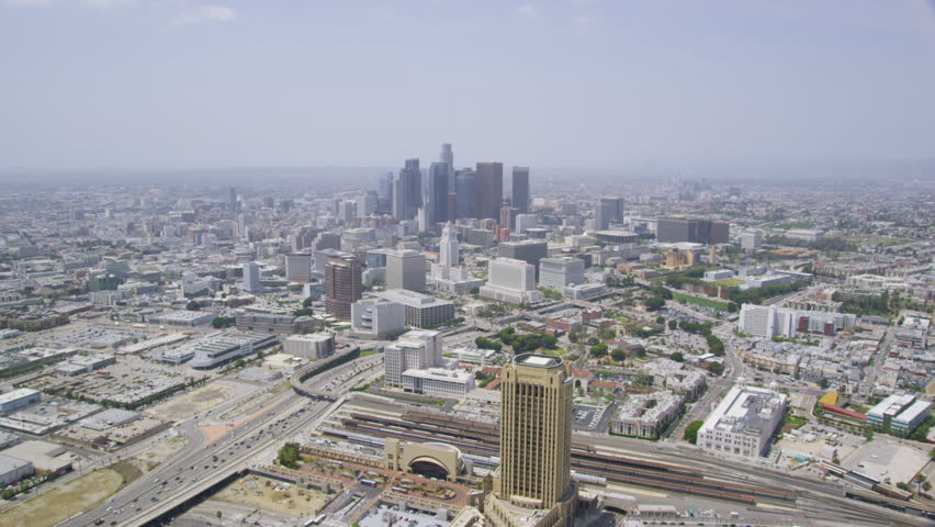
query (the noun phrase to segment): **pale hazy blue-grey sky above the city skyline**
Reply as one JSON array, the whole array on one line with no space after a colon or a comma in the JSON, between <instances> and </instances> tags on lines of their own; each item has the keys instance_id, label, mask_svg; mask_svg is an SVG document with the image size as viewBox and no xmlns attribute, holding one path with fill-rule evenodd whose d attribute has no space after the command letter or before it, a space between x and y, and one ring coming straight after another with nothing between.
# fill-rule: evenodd
<instances>
[{"instance_id":1,"label":"pale hazy blue-grey sky above the city skyline","mask_svg":"<svg viewBox=\"0 0 935 527\"><path fill-rule=\"evenodd\" d=\"M0 168L935 157L910 0L0 0Z\"/></svg>"}]
</instances>

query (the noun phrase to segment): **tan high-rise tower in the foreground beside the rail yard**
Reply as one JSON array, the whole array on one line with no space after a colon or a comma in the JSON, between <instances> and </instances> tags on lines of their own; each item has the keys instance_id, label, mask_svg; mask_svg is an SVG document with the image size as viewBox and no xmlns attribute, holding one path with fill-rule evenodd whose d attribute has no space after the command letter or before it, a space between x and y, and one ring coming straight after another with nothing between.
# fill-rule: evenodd
<instances>
[{"instance_id":1,"label":"tan high-rise tower in the foreground beside the rail yard","mask_svg":"<svg viewBox=\"0 0 935 527\"><path fill-rule=\"evenodd\" d=\"M497 527L572 527L572 368L559 357L527 354L500 379L500 469L485 516Z\"/></svg>"}]
</instances>

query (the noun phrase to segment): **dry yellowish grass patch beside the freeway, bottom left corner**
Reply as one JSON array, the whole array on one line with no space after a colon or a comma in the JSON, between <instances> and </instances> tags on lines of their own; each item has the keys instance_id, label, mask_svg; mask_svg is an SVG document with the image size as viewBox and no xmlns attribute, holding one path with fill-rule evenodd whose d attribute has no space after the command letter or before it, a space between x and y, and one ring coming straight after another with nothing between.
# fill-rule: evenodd
<instances>
[{"instance_id":1,"label":"dry yellowish grass patch beside the freeway, bottom left corner","mask_svg":"<svg viewBox=\"0 0 935 527\"><path fill-rule=\"evenodd\" d=\"M123 485L121 472L97 470L0 513L0 525L53 527L97 507Z\"/></svg>"}]
</instances>

